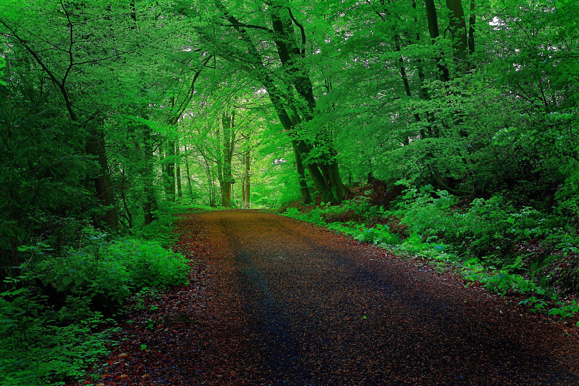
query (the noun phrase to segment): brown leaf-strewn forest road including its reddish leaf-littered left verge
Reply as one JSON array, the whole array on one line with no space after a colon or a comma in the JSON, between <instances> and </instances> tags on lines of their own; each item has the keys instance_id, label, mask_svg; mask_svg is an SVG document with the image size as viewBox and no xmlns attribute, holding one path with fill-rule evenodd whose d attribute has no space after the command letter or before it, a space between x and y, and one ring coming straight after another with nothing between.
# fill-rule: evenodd
<instances>
[{"instance_id":1,"label":"brown leaf-strewn forest road including its reddish leaf-littered left verge","mask_svg":"<svg viewBox=\"0 0 579 386\"><path fill-rule=\"evenodd\" d=\"M189 285L129 304L91 384L579 384L573 329L428 264L253 210L177 231Z\"/></svg>"}]
</instances>

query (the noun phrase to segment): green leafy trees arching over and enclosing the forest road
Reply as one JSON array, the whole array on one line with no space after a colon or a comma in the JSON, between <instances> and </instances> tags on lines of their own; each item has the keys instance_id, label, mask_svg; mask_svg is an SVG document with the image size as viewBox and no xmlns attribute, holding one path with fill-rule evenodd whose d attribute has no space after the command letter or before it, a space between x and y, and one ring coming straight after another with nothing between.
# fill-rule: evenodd
<instances>
[{"instance_id":1,"label":"green leafy trees arching over and enclosing the forest road","mask_svg":"<svg viewBox=\"0 0 579 386\"><path fill-rule=\"evenodd\" d=\"M195 205L498 205L575 253L578 50L574 0L2 0L0 352L184 280L78 273Z\"/></svg>"}]
</instances>

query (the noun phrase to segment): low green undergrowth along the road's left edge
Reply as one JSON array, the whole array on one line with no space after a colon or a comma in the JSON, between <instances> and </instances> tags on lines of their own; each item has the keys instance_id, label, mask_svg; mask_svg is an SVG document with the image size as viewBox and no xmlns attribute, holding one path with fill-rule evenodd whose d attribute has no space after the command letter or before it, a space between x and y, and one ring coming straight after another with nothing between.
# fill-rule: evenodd
<instances>
[{"instance_id":1,"label":"low green undergrowth along the road's left edge","mask_svg":"<svg viewBox=\"0 0 579 386\"><path fill-rule=\"evenodd\" d=\"M0 293L0 384L64 385L119 345L123 304L187 282L173 251L174 214L213 208L162 205L141 230L111 236L90 226L58 250L38 242Z\"/></svg>"}]
</instances>

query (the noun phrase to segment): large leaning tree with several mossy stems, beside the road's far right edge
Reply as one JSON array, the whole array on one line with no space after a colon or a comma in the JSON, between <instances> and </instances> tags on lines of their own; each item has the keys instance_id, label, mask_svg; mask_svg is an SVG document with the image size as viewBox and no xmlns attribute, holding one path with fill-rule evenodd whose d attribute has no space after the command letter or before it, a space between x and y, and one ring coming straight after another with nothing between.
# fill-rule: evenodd
<instances>
[{"instance_id":1,"label":"large leaning tree with several mossy stems, beside the road's far right edge","mask_svg":"<svg viewBox=\"0 0 579 386\"><path fill-rule=\"evenodd\" d=\"M340 203L346 192L332 145L331 129L323 124L307 127L316 116L316 98L307 68L305 28L294 17L291 8L281 1L267 8L266 17L259 17L260 24L237 19L222 1L214 5L211 12L218 22L194 24L200 41L262 84L281 125L290 135L290 141L295 143L294 152L299 157L296 166L307 168L323 201ZM248 9L252 5L245 4ZM189 15L196 15L198 11L196 8L182 9ZM270 60L272 56L275 60ZM302 174L300 170L298 174ZM302 194L309 202L307 193L302 190Z\"/></svg>"}]
</instances>

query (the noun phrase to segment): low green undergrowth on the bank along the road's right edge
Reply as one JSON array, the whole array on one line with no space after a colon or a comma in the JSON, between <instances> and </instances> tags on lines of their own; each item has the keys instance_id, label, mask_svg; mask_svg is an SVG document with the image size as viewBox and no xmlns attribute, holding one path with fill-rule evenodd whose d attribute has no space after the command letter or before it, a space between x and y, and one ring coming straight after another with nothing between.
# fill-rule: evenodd
<instances>
[{"instance_id":1,"label":"low green undergrowth on the bank along the road's right edge","mask_svg":"<svg viewBox=\"0 0 579 386\"><path fill-rule=\"evenodd\" d=\"M579 238L562 213L576 197L559 196L551 211L517 207L508 192L474 200L431 186L407 189L389 205L373 205L370 186L342 205L282 207L284 216L377 245L395 256L423 260L530 312L579 326ZM570 319L567 319L570 318Z\"/></svg>"}]
</instances>

